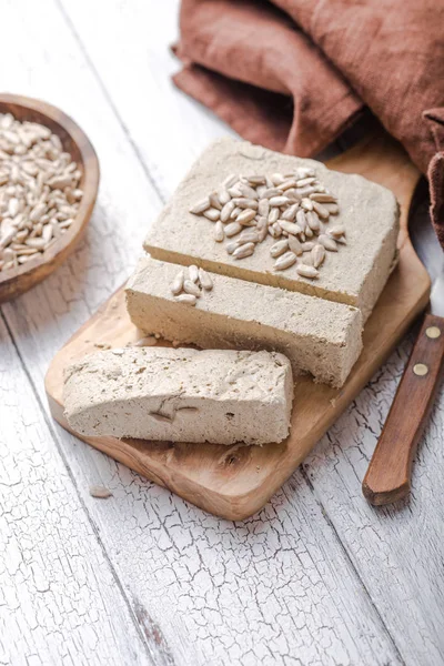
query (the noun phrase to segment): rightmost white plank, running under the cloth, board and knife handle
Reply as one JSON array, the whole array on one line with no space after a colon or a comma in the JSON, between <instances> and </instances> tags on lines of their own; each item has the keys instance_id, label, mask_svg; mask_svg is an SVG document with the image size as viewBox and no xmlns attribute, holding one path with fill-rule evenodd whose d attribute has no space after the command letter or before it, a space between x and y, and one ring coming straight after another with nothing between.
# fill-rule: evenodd
<instances>
[{"instance_id":1,"label":"rightmost white plank, running under the cloth, board and knife handle","mask_svg":"<svg viewBox=\"0 0 444 666\"><path fill-rule=\"evenodd\" d=\"M109 2L107 33L100 44L94 39L101 26L100 12L85 0L64 6L140 154L160 190L169 195L195 154L211 139L229 131L168 81L178 67L168 52L168 44L176 38L171 3L162 3L162 8L155 3L154 12L154 2L145 0L132 2L131 8ZM127 43L128 34L132 39L122 57L113 44ZM149 131L147 118L151 121ZM152 128L162 127L162 118L167 131L155 133ZM316 471L312 481L316 497L350 548L373 602L402 647L403 658L412 665L425 665L441 663L444 649L436 624L444 596L440 568L443 447L437 427L431 426L420 447L410 504L377 511L361 495L361 480L393 398L405 350L404 345L376 373L340 425L326 435L316 450L322 454L314 454L310 470ZM441 393L432 424L443 406ZM420 577L416 572L421 572Z\"/></svg>"}]
</instances>

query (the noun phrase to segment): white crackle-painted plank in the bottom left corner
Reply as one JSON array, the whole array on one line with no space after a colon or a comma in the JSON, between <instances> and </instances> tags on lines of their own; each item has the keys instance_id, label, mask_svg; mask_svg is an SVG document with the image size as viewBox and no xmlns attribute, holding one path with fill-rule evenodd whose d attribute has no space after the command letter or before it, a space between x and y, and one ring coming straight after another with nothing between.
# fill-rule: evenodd
<instances>
[{"instance_id":1,"label":"white crackle-painted plank in the bottom left corner","mask_svg":"<svg viewBox=\"0 0 444 666\"><path fill-rule=\"evenodd\" d=\"M1 319L0 345L0 663L152 664Z\"/></svg>"}]
</instances>

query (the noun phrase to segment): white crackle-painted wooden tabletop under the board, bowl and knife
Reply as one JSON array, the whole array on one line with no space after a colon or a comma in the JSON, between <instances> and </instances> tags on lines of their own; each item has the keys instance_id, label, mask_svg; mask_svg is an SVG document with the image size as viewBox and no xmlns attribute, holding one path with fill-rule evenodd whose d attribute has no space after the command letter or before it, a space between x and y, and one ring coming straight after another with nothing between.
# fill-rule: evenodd
<instances>
[{"instance_id":1,"label":"white crackle-painted wooden tabletop under the board, bowl and knife","mask_svg":"<svg viewBox=\"0 0 444 666\"><path fill-rule=\"evenodd\" d=\"M178 0L3 0L3 91L61 107L102 181L87 241L0 321L0 664L444 664L444 392L410 502L361 481L405 341L272 502L204 514L48 415L54 352L128 276L148 225L228 129L174 89ZM90 496L91 484L112 491Z\"/></svg>"}]
</instances>

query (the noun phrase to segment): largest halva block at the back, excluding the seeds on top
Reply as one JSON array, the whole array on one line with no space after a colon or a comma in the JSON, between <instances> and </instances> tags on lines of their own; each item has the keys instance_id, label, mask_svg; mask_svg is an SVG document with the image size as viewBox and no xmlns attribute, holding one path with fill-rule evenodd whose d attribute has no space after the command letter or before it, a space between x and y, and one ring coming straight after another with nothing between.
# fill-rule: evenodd
<instances>
[{"instance_id":1,"label":"largest halva block at the back, excluding the seeds on top","mask_svg":"<svg viewBox=\"0 0 444 666\"><path fill-rule=\"evenodd\" d=\"M314 169L319 180L336 198L339 214L330 225L345 229L346 244L327 252L319 279L297 273L296 265L274 271L271 236L251 256L242 260L226 253L224 243L214 242L214 224L190 209L220 189L230 173L291 173L300 167ZM325 225L327 230L329 224ZM173 263L195 263L206 270L241 280L280 286L360 307L364 321L370 315L393 268L398 233L398 206L393 193L356 174L329 170L321 162L284 155L234 139L214 141L180 183L144 243L155 259Z\"/></svg>"}]
</instances>

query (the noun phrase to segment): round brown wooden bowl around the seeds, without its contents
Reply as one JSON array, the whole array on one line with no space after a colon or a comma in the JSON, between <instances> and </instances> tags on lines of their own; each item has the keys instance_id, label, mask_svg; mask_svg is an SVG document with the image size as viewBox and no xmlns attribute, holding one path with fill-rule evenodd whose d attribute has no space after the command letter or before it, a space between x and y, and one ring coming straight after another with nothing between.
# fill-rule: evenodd
<instances>
[{"instance_id":1,"label":"round brown wooden bowl around the seeds, without its contents","mask_svg":"<svg viewBox=\"0 0 444 666\"><path fill-rule=\"evenodd\" d=\"M94 208L99 188L99 161L87 134L63 111L31 98L0 94L0 113L12 113L18 120L39 122L60 137L63 150L72 155L82 171L79 188L83 190L73 223L46 252L36 254L18 269L0 272L0 303L22 294L47 278L74 250L83 236Z\"/></svg>"}]
</instances>

